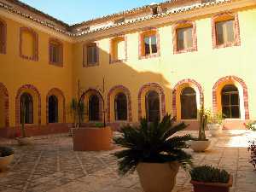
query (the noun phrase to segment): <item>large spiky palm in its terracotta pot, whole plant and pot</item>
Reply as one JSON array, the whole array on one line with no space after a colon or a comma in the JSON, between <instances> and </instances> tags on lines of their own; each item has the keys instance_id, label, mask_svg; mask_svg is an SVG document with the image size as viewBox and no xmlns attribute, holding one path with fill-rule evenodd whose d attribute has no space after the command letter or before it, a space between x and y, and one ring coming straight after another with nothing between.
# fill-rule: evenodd
<instances>
[{"instance_id":1,"label":"large spiky palm in its terracotta pot, whole plant and pot","mask_svg":"<svg viewBox=\"0 0 256 192\"><path fill-rule=\"evenodd\" d=\"M171 192L179 166L186 169L191 164L192 157L183 148L189 147L186 142L192 137L173 137L187 127L174 121L168 114L161 122L142 119L138 127L126 125L119 131L121 136L113 138L113 143L123 148L113 154L119 160L119 173L137 169L144 192Z\"/></svg>"}]
</instances>

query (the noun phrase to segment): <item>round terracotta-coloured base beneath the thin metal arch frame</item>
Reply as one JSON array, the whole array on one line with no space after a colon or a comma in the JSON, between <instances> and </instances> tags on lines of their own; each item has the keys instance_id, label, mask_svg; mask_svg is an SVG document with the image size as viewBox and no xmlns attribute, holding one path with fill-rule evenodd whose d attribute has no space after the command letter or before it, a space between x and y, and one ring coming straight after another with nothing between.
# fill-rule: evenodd
<instances>
[{"instance_id":1,"label":"round terracotta-coloured base beneath the thin metal arch frame","mask_svg":"<svg viewBox=\"0 0 256 192\"><path fill-rule=\"evenodd\" d=\"M74 151L102 151L112 149L112 129L80 127L73 129Z\"/></svg>"}]
</instances>

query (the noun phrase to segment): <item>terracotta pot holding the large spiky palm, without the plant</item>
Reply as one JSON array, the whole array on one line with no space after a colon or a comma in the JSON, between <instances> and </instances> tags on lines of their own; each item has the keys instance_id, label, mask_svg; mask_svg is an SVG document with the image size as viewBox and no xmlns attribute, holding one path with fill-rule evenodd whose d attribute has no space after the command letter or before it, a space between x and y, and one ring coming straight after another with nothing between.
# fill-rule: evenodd
<instances>
[{"instance_id":1,"label":"terracotta pot holding the large spiky palm, without the plant","mask_svg":"<svg viewBox=\"0 0 256 192\"><path fill-rule=\"evenodd\" d=\"M137 173L144 192L171 192L175 183L180 164L139 163Z\"/></svg>"}]
</instances>

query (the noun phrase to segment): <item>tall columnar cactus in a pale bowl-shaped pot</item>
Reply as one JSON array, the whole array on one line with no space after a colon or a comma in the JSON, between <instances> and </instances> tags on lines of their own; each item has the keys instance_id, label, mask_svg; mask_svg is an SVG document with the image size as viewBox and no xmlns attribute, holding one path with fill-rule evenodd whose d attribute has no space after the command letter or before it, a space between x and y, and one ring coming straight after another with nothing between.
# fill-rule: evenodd
<instances>
[{"instance_id":1,"label":"tall columnar cactus in a pale bowl-shaped pot","mask_svg":"<svg viewBox=\"0 0 256 192\"><path fill-rule=\"evenodd\" d=\"M211 141L207 139L206 136L206 126L207 126L207 112L204 105L201 105L199 110L199 131L198 138L191 140L189 142L190 148L195 152L205 151L211 144Z\"/></svg>"}]
</instances>

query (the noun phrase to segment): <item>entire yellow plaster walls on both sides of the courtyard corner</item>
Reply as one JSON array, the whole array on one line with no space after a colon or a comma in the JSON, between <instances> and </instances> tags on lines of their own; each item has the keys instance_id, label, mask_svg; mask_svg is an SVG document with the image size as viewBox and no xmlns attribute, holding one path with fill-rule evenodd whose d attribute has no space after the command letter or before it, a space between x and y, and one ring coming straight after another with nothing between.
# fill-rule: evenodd
<instances>
[{"instance_id":1,"label":"entire yellow plaster walls on both sides of the courtyard corner","mask_svg":"<svg viewBox=\"0 0 256 192\"><path fill-rule=\"evenodd\" d=\"M72 96L78 94L78 80L81 88L102 88L105 79L106 101L108 91L121 84L131 92L131 113L133 121L138 121L138 92L143 84L158 83L166 96L166 112L172 113L172 89L182 79L195 79L204 90L207 108L212 108L212 87L227 75L237 76L245 81L248 88L249 110L251 119L256 119L256 79L255 79L255 31L256 9L238 12L241 32L241 46L223 49L212 49L211 15L196 18L198 51L173 54L172 24L159 26L160 56L138 59L139 31L128 32L127 61L109 64L110 39L97 39L99 45L99 66L83 67L83 45L63 43L63 67L49 65L49 38L55 38L38 32L38 61L20 58L20 23L0 16L7 23L7 54L0 55L0 82L9 91L10 126L15 126L15 96L23 84L33 84L38 88L42 102L42 124L46 123L46 95L54 87L63 91L68 106ZM92 39L93 40L93 39ZM219 88L220 89L220 88ZM196 90L197 91L197 90ZM178 91L177 91L178 92ZM144 93L142 98L143 116L145 115ZM114 96L113 96L114 98ZM197 99L199 101L199 99ZM219 100L219 98L218 98ZM61 101L59 101L59 104ZM87 107L87 106L86 106ZM219 108L219 106L218 106ZM59 108L61 111L61 108ZM68 108L66 108L66 111ZM113 100L111 100L111 121L114 120ZM177 109L180 109L177 100ZM61 113L59 113L59 118ZM180 113L177 113L179 119ZM67 122L71 122L67 113Z\"/></svg>"}]
</instances>

